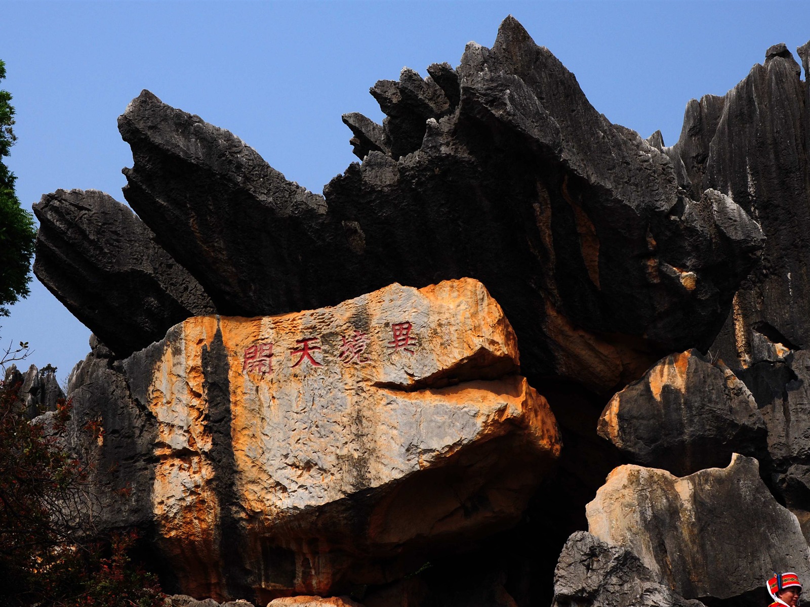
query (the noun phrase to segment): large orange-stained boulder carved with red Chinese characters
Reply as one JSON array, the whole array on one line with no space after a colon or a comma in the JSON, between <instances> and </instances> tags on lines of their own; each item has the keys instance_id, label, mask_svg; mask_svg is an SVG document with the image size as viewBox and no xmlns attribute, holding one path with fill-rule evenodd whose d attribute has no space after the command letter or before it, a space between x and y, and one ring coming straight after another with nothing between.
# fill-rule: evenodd
<instances>
[{"instance_id":1,"label":"large orange-stained boulder carved with red Chinese characters","mask_svg":"<svg viewBox=\"0 0 810 607\"><path fill-rule=\"evenodd\" d=\"M471 279L170 329L124 367L183 592L334 594L513 523L561 448L518 364Z\"/></svg>"}]
</instances>

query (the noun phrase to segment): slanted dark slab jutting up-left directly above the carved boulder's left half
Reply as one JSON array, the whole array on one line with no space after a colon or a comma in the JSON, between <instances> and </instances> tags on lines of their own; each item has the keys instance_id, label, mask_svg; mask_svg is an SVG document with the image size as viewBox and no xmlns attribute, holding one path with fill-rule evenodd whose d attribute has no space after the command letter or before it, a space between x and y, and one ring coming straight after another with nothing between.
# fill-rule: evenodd
<instances>
[{"instance_id":1,"label":"slanted dark slab jutting up-left directly above the carved boulder's left half","mask_svg":"<svg viewBox=\"0 0 810 607\"><path fill-rule=\"evenodd\" d=\"M323 278L347 243L341 227L326 223L321 196L285 180L227 130L149 91L118 129L134 159L124 169L127 202L218 311L255 316L342 299L338 277Z\"/></svg>"}]
</instances>

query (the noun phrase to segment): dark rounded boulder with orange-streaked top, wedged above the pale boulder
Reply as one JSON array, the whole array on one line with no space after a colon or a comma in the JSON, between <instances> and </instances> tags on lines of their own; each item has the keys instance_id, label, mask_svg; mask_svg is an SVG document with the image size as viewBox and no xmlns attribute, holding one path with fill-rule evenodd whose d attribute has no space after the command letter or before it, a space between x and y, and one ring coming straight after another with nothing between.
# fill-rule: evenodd
<instances>
[{"instance_id":1,"label":"dark rounded boulder with orange-streaked top, wedged above the pale boulder","mask_svg":"<svg viewBox=\"0 0 810 607\"><path fill-rule=\"evenodd\" d=\"M765 420L745 384L697 350L659 360L612 397L599 435L641 465L685 476L738 452L768 456Z\"/></svg>"}]
</instances>

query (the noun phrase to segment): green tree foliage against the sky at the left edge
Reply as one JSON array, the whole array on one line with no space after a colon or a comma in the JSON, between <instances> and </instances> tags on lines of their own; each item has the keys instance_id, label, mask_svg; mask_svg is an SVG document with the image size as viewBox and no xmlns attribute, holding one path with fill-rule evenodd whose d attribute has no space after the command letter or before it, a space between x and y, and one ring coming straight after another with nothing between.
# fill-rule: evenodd
<instances>
[{"instance_id":1,"label":"green tree foliage against the sky at the left edge","mask_svg":"<svg viewBox=\"0 0 810 607\"><path fill-rule=\"evenodd\" d=\"M6 78L6 64L0 61L0 81ZM34 254L36 225L32 214L19 206L15 175L2 159L17 140L11 94L0 90L0 316L8 316L7 305L28 295L31 257Z\"/></svg>"}]
</instances>

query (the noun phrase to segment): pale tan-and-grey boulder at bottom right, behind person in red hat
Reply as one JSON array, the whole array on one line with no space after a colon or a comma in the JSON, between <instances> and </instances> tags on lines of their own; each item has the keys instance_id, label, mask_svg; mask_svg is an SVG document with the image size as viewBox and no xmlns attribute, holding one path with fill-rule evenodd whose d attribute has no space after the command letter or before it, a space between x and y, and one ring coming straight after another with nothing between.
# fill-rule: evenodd
<instances>
[{"instance_id":1,"label":"pale tan-and-grey boulder at bottom right, behind person in red hat","mask_svg":"<svg viewBox=\"0 0 810 607\"><path fill-rule=\"evenodd\" d=\"M761 603L763 571L810 576L799 521L761 481L757 461L736 455L725 469L684 478L624 465L586 508L590 533L627 548L687 598Z\"/></svg>"}]
</instances>

